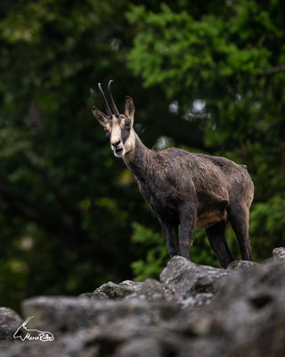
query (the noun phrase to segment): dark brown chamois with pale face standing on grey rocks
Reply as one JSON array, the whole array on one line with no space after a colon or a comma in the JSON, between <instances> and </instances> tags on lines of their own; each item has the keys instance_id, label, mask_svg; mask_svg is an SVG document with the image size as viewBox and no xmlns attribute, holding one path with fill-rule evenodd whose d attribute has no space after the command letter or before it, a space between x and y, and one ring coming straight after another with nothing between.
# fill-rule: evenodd
<instances>
[{"instance_id":1,"label":"dark brown chamois with pale face standing on grey rocks","mask_svg":"<svg viewBox=\"0 0 285 357\"><path fill-rule=\"evenodd\" d=\"M194 229L203 228L222 268L234 261L225 238L230 221L243 260L251 261L249 208L254 185L245 165L224 157L192 154L171 147L150 150L134 132L134 101L126 96L125 113L114 103L110 84L108 103L98 84L108 115L93 107L115 156L134 174L142 197L149 203L167 236L168 253L189 259ZM178 226L180 224L180 238Z\"/></svg>"}]
</instances>

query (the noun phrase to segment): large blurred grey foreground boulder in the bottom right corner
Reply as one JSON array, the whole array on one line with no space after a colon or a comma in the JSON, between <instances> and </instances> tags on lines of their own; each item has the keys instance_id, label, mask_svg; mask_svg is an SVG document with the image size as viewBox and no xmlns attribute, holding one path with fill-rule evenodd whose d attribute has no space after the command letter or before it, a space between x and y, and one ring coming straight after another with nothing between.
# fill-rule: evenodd
<instances>
[{"instance_id":1,"label":"large blurred grey foreground boulder in the bottom right corner","mask_svg":"<svg viewBox=\"0 0 285 357\"><path fill-rule=\"evenodd\" d=\"M223 356L284 355L284 277L281 263L240 270L225 280L210 305L183 324L193 335L223 341Z\"/></svg>"}]
</instances>

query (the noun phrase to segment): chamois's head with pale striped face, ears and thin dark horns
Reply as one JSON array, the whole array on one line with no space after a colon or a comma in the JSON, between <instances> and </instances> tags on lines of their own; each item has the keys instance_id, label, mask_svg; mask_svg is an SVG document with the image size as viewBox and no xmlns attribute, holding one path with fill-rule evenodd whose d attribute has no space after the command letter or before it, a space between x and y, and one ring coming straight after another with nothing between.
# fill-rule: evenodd
<instances>
[{"instance_id":1,"label":"chamois's head with pale striped face, ears and thin dark horns","mask_svg":"<svg viewBox=\"0 0 285 357\"><path fill-rule=\"evenodd\" d=\"M112 80L110 80L108 85L110 105L102 91L101 83L98 83L107 115L95 106L93 107L92 112L94 117L104 127L107 137L110 138L110 147L115 156L124 157L125 154L134 149L134 101L130 96L126 95L125 112L124 114L120 114L110 90L111 83Z\"/></svg>"}]
</instances>

